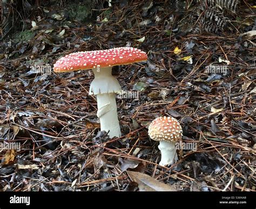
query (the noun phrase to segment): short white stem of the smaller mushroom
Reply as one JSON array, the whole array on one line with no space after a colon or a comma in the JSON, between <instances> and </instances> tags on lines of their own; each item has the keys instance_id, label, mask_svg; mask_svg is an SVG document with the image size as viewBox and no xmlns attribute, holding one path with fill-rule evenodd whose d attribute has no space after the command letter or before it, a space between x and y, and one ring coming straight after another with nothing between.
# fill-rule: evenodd
<instances>
[{"instance_id":1,"label":"short white stem of the smaller mushroom","mask_svg":"<svg viewBox=\"0 0 256 209\"><path fill-rule=\"evenodd\" d=\"M176 154L176 142L166 142L160 141L158 148L161 151L161 161L160 165L169 165L172 164L173 161L178 159Z\"/></svg>"}]
</instances>

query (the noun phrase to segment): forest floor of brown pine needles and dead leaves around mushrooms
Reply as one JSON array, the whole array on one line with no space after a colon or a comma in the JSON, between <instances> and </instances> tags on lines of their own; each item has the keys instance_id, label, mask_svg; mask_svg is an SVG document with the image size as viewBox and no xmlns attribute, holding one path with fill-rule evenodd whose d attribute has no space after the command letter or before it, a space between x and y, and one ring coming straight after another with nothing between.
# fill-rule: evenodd
<instances>
[{"instance_id":1,"label":"forest floor of brown pine needles and dead leaves around mushrooms","mask_svg":"<svg viewBox=\"0 0 256 209\"><path fill-rule=\"evenodd\" d=\"M0 190L255 191L250 1L221 11L165 1L101 6L83 24L63 5L39 6L24 18L23 32L2 40ZM122 137L110 139L89 95L93 73L52 67L72 52L121 46L140 48L148 60L113 68L122 89L139 95L117 97ZM147 134L159 116L179 120L183 142L197 145L178 150L170 166L158 164L158 142ZM18 147L4 149L8 143Z\"/></svg>"}]
</instances>

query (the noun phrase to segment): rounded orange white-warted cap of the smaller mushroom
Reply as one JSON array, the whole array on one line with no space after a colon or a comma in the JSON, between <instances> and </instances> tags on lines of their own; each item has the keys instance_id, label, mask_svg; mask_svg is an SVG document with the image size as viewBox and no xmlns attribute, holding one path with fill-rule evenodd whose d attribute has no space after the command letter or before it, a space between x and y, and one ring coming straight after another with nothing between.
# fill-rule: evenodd
<instances>
[{"instance_id":1,"label":"rounded orange white-warted cap of the smaller mushroom","mask_svg":"<svg viewBox=\"0 0 256 209\"><path fill-rule=\"evenodd\" d=\"M173 117L158 117L150 123L149 136L154 141L177 142L182 137L182 128Z\"/></svg>"}]
</instances>

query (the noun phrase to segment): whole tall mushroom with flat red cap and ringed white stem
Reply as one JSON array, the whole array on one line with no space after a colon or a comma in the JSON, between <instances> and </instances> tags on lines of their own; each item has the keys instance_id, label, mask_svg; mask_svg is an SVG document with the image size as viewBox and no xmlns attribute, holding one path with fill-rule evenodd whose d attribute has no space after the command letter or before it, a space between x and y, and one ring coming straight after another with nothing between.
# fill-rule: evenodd
<instances>
[{"instance_id":1,"label":"whole tall mushroom with flat red cap and ringed white stem","mask_svg":"<svg viewBox=\"0 0 256 209\"><path fill-rule=\"evenodd\" d=\"M147 60L145 52L132 47L110 50L76 52L60 58L54 65L56 73L92 69L95 79L91 82L89 94L97 95L97 116L100 129L109 131L109 136L121 136L117 116L116 93L121 91L119 82L112 76L112 66L127 65Z\"/></svg>"}]
</instances>

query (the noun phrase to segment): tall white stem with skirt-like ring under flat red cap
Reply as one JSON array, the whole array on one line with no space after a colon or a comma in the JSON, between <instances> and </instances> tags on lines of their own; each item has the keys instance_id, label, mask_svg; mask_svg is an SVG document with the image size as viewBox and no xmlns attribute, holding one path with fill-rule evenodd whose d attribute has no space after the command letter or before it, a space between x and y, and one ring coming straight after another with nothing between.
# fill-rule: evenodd
<instances>
[{"instance_id":1,"label":"tall white stem with skirt-like ring under flat red cap","mask_svg":"<svg viewBox=\"0 0 256 209\"><path fill-rule=\"evenodd\" d=\"M100 120L100 130L109 131L109 136L120 137L121 131L117 116L116 93L121 87L111 73L112 67L93 69L95 79L90 86L90 93L97 95L97 116Z\"/></svg>"}]
</instances>

